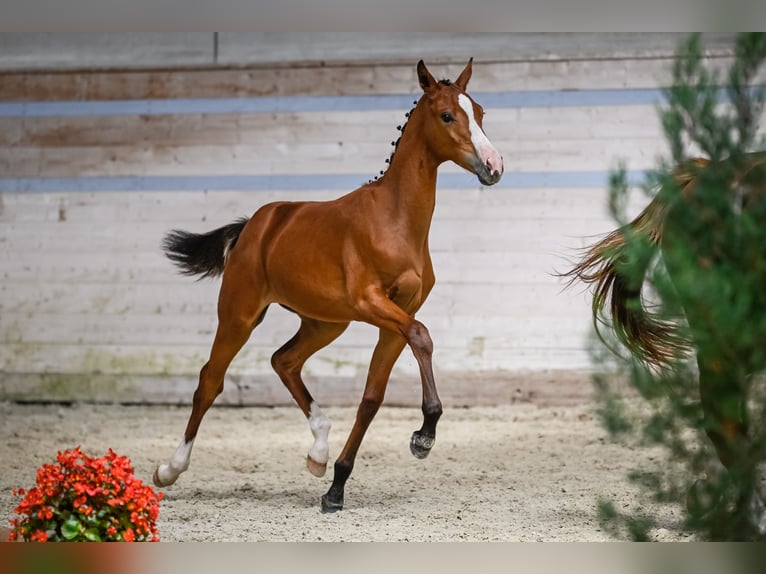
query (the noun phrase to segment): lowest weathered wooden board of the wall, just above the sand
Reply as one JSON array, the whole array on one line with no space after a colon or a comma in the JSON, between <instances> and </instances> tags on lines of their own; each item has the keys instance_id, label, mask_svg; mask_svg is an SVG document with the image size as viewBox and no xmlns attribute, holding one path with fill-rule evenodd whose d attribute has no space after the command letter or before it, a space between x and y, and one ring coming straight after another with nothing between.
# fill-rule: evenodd
<instances>
[{"instance_id":1,"label":"lowest weathered wooden board of the wall, just above the sand","mask_svg":"<svg viewBox=\"0 0 766 574\"><path fill-rule=\"evenodd\" d=\"M535 371L442 373L437 376L445 407L473 407L531 403L539 406L574 405L592 398L590 373ZM197 380L193 376L55 375L6 373L0 375L0 400L11 402L122 403L190 405ZM364 381L350 378L306 380L322 406L356 406ZM389 406L419 407L420 381L392 379L386 391ZM227 377L217 405L293 405L287 390L272 377Z\"/></svg>"}]
</instances>

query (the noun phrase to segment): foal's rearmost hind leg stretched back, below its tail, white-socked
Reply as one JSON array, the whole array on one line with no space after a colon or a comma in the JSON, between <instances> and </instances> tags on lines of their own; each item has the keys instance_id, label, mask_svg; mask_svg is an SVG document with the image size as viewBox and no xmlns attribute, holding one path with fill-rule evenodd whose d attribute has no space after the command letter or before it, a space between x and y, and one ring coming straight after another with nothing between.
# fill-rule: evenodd
<instances>
[{"instance_id":1,"label":"foal's rearmost hind leg stretched back, below its tail, white-socked","mask_svg":"<svg viewBox=\"0 0 766 574\"><path fill-rule=\"evenodd\" d=\"M210 349L210 359L199 374L199 384L194 391L192 412L186 431L170 461L159 465L154 471L153 481L156 486L170 486L189 467L192 446L202 417L216 397L223 392L224 376L232 359L266 314L266 306L257 296L253 297L252 293L243 294L246 290L242 289L241 284L233 277L228 279L227 282L227 277L224 276L221 285L218 329Z\"/></svg>"}]
</instances>

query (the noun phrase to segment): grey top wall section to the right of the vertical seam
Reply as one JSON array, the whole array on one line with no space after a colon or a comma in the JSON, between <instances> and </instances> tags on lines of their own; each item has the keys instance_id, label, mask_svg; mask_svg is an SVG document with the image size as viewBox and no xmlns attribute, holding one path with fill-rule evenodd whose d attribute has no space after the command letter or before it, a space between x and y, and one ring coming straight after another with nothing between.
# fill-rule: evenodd
<instances>
[{"instance_id":1,"label":"grey top wall section to the right of the vertical seam","mask_svg":"<svg viewBox=\"0 0 766 574\"><path fill-rule=\"evenodd\" d=\"M218 63L349 64L386 61L429 64L477 61L672 56L675 33L221 33ZM731 52L731 34L707 34L708 50Z\"/></svg>"}]
</instances>

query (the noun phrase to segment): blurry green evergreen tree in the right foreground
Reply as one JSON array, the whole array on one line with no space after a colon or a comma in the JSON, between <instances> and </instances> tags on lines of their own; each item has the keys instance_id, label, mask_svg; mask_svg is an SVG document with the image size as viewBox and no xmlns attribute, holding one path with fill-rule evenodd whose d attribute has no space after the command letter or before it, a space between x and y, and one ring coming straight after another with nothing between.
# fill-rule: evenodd
<instances>
[{"instance_id":1,"label":"blurry green evergreen tree in the right foreground","mask_svg":"<svg viewBox=\"0 0 766 574\"><path fill-rule=\"evenodd\" d=\"M566 274L594 286L602 423L615 440L661 453L656 468L628 477L638 510L599 501L616 537L650 538L646 497L681 504L703 539L766 530L766 145L754 85L764 60L764 33L738 35L725 77L706 67L699 35L682 43L659 110L670 157L647 174L649 206L626 219L630 186L616 170L620 227Z\"/></svg>"}]
</instances>

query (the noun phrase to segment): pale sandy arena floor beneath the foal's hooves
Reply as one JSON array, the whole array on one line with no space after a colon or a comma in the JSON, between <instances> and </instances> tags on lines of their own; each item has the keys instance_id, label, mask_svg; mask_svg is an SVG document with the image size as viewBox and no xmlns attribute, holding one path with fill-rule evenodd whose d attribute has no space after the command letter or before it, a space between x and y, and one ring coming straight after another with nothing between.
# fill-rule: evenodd
<instances>
[{"instance_id":1,"label":"pale sandy arena floor beneath the foal's hooves","mask_svg":"<svg viewBox=\"0 0 766 574\"><path fill-rule=\"evenodd\" d=\"M354 417L327 408L331 463ZM151 482L185 427L188 407L0 403L0 517L13 516L15 487L57 450L111 447ZM600 541L598 496L633 501L629 469L651 453L611 444L592 406L516 404L445 408L425 460L409 452L417 408L383 407L346 485L345 508L322 514L332 468L304 467L312 437L297 408L214 407L191 467L163 489L164 541ZM664 507L660 540L688 540L679 508Z\"/></svg>"}]
</instances>

